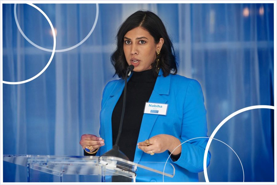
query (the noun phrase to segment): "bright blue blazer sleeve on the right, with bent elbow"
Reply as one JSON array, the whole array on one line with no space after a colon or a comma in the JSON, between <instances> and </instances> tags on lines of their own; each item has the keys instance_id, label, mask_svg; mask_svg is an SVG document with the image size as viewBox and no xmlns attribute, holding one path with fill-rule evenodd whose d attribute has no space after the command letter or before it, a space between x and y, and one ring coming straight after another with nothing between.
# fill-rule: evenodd
<instances>
[{"instance_id":1,"label":"bright blue blazer sleeve on the right, with bent elbow","mask_svg":"<svg viewBox=\"0 0 277 185\"><path fill-rule=\"evenodd\" d=\"M191 80L183 104L183 121L181 143L197 137L207 137L207 118L202 88L197 80ZM203 157L208 138L192 139L182 144L181 156L171 162L198 173L203 171ZM210 164L211 153L208 152L207 166Z\"/></svg>"}]
</instances>

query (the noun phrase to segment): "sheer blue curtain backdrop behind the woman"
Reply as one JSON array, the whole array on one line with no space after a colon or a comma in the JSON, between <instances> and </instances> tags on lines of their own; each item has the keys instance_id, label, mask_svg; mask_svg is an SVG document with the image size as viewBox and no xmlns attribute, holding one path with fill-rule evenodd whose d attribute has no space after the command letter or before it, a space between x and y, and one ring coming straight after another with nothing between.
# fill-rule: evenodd
<instances>
[{"instance_id":1,"label":"sheer blue curtain backdrop behind the woman","mask_svg":"<svg viewBox=\"0 0 277 185\"><path fill-rule=\"evenodd\" d=\"M57 50L82 41L96 18L96 4L36 6L56 30ZM97 24L84 43L56 52L35 80L3 84L3 154L83 154L80 137L98 135L102 90L114 79L110 54L116 32L140 9L163 20L178 54L178 73L202 85L208 135L239 109L273 105L273 4L99 4ZM16 10L24 34L51 50L53 35L46 18L30 5L18 4ZM45 67L51 52L22 36L14 4L3 4L2 15L3 80L29 79ZM238 154L246 182L274 181L273 124L273 110L249 110L231 118L215 135ZM239 160L227 146L213 141L210 151L210 182L243 181ZM26 181L25 168L3 164L4 182ZM205 181L203 172L199 179ZM55 177L42 177L52 180ZM74 176L67 181L90 179Z\"/></svg>"}]
</instances>

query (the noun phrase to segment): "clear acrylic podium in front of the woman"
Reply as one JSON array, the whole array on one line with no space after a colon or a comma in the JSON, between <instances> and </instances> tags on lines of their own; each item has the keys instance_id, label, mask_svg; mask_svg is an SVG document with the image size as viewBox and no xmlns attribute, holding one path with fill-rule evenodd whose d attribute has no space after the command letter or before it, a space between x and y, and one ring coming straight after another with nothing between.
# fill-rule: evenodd
<instances>
[{"instance_id":1,"label":"clear acrylic podium in front of the woman","mask_svg":"<svg viewBox=\"0 0 277 185\"><path fill-rule=\"evenodd\" d=\"M27 182L30 182L30 169L60 176L96 175L98 182L114 175L122 175L135 182L137 172L142 176L165 175L173 177L175 168L165 162L130 162L117 157L98 156L51 156L51 155L3 155L3 161L25 166ZM151 167L155 167L155 169ZM165 168L164 168L165 167ZM163 172L164 171L164 172Z\"/></svg>"}]
</instances>

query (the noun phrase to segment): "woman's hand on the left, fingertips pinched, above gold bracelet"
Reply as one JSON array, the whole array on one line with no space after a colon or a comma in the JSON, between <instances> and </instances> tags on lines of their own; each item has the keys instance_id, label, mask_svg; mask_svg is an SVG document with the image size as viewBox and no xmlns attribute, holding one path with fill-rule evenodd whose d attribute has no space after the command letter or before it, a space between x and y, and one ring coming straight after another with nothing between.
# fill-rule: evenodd
<instances>
[{"instance_id":1,"label":"woman's hand on the left, fingertips pinched, above gold bracelet","mask_svg":"<svg viewBox=\"0 0 277 185\"><path fill-rule=\"evenodd\" d=\"M81 136L80 145L83 149L92 146L95 150L105 145L104 139L92 134L83 134Z\"/></svg>"}]
</instances>

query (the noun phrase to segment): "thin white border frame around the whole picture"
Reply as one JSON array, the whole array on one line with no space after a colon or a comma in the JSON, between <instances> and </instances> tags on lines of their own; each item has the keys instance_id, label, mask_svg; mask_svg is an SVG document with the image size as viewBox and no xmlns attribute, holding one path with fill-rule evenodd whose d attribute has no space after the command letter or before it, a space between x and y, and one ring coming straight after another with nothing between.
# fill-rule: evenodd
<instances>
[{"instance_id":1,"label":"thin white border frame around the whole picture","mask_svg":"<svg viewBox=\"0 0 277 185\"><path fill-rule=\"evenodd\" d=\"M134 4L134 3L139 3L139 4L143 4L143 3L273 3L274 5L274 141L277 140L276 137L276 119L277 119L277 97L276 97L276 93L277 93L277 85L276 85L276 73L277 73L277 66L276 66L276 1L251 1L251 0L244 0L244 1L181 1L181 0L173 0L173 1L159 1L159 0L151 0L151 1L129 1L129 0L121 0L121 1L76 1L76 0L67 0L67 1L54 1L54 0L49 0L49 1L32 1L32 0L25 0L25 1L13 1L13 0L5 0L5 1L1 1L0 0L0 10L1 13L3 13L2 11L2 4L13 4L13 3L17 3L17 4L24 4L24 3L33 3L33 4L38 4L38 3L44 3L44 4L50 4L50 3L62 3L62 4L74 4L74 3L99 3L99 4L107 4L107 3L128 3L128 4ZM0 151L1 151L1 168L0 168L0 184L29 184L29 183L3 183L3 16L1 15L1 30L0 30L0 124L1 124L1 147L0 147ZM181 182L181 183L136 183L136 184L276 184L276 174L277 174L277 159L276 159L276 142L274 142L274 182L219 182L219 183L206 183L206 182L199 182L199 183L186 183L186 182ZM38 183L32 183L32 184L38 184ZM39 183L39 184L103 184L103 183ZM104 184L130 184L130 183L104 183Z\"/></svg>"}]
</instances>

